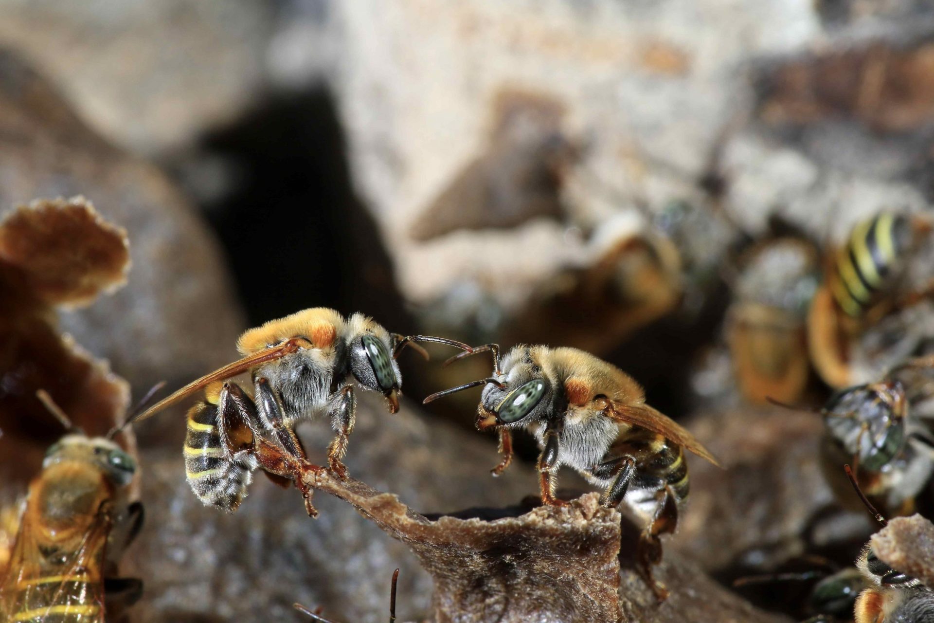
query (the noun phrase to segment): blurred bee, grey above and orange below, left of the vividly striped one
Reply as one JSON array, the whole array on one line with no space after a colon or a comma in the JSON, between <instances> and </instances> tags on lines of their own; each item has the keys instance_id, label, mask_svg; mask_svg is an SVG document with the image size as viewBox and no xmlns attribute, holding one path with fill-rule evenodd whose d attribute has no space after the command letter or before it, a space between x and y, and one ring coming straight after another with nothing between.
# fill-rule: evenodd
<instances>
[{"instance_id":1,"label":"blurred bee, grey above and orange below, left of the vividly striped one","mask_svg":"<svg viewBox=\"0 0 934 623\"><path fill-rule=\"evenodd\" d=\"M805 319L817 289L817 250L800 238L778 238L741 262L726 330L739 389L755 403L794 402L811 370Z\"/></svg>"}]
</instances>

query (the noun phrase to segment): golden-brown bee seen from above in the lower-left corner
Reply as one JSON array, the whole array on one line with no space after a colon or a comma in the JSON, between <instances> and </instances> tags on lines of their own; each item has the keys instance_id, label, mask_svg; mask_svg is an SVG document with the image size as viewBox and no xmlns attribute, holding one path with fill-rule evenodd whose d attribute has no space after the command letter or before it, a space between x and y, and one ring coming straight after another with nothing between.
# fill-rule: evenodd
<instances>
[{"instance_id":1,"label":"golden-brown bee seen from above in the lower-left corner","mask_svg":"<svg viewBox=\"0 0 934 623\"><path fill-rule=\"evenodd\" d=\"M89 438L69 424L50 446L0 582L3 620L103 623L105 604L112 614L139 599L139 580L111 577L143 518L142 504L129 501L136 464L114 442L120 430Z\"/></svg>"}]
</instances>

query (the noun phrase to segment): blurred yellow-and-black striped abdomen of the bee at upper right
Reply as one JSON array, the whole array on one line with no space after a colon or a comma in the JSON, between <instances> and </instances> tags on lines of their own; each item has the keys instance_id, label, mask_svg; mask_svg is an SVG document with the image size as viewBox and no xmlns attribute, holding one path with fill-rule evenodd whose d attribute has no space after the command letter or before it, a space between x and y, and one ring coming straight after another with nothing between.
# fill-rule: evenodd
<instances>
[{"instance_id":1,"label":"blurred yellow-and-black striped abdomen of the bee at upper right","mask_svg":"<svg viewBox=\"0 0 934 623\"><path fill-rule=\"evenodd\" d=\"M858 318L886 290L909 247L910 227L907 217L888 212L856 224L837 251L830 279L833 298L847 316Z\"/></svg>"}]
</instances>

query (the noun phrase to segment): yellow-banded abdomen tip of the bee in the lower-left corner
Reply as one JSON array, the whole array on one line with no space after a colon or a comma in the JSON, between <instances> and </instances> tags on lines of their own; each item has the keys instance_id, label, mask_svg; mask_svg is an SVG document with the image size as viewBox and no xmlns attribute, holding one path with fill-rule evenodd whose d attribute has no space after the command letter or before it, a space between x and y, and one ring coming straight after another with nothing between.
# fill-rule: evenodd
<instances>
[{"instance_id":1,"label":"yellow-banded abdomen tip of the bee in the lower-left corner","mask_svg":"<svg viewBox=\"0 0 934 623\"><path fill-rule=\"evenodd\" d=\"M11 623L103 623L103 587L90 575L49 575L17 583Z\"/></svg>"}]
</instances>

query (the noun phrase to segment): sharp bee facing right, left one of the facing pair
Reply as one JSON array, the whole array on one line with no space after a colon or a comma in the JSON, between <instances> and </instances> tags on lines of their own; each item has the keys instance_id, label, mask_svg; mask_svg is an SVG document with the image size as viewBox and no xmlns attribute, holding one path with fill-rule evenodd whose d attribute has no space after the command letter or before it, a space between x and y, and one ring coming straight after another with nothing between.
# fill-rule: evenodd
<instances>
[{"instance_id":1,"label":"sharp bee facing right, left one of the facing pair","mask_svg":"<svg viewBox=\"0 0 934 623\"><path fill-rule=\"evenodd\" d=\"M199 426L217 426L218 438L225 446L212 446L213 438L205 435L207 445L202 444L200 448L213 452L220 449L233 455L250 446L245 439L247 429L254 434L265 431L290 458L304 461L304 448L295 435L294 424L300 419L323 414L331 420L336 433L328 447L328 466L339 477L345 478L347 468L342 460L356 417L355 387L382 393L389 403L389 413L398 411L402 375L396 358L403 347L417 347L416 342L435 342L470 350L466 344L441 337L403 337L389 333L360 313L345 319L326 307L305 309L283 319L270 320L240 335L237 349L244 356L242 359L178 389L151 406L139 420L149 418L211 383L249 371L255 402L248 404L247 394L228 384L226 394L208 392L206 404L212 405L214 393L217 394L217 404L211 407L201 405L200 409L189 412L190 436L192 422L196 425L195 430ZM423 349L417 348L427 357ZM228 429L228 425L235 430ZM207 432L204 428L200 430ZM189 447L188 442L186 447ZM195 447L191 446L192 449ZM272 449L271 445L265 447ZM190 453L186 452L186 455ZM202 456L209 455L203 453ZM239 456L237 460L243 464L237 469L248 468L249 460L243 459L245 455ZM279 459L282 459L281 453L276 457ZM243 485L242 478L237 482L236 487ZM216 505L230 505L236 494L226 496L227 502L223 498L223 495L217 498L219 504Z\"/></svg>"}]
</instances>

